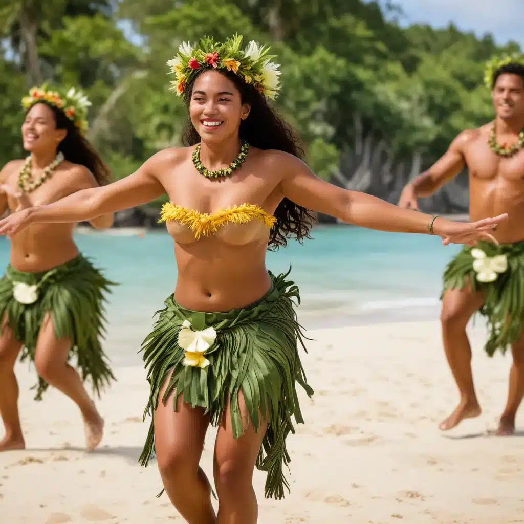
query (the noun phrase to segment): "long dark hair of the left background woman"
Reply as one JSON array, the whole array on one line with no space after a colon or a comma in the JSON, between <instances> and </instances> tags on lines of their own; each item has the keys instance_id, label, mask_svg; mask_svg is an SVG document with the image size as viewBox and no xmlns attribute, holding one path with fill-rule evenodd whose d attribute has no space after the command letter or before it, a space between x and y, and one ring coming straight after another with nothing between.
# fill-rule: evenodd
<instances>
[{"instance_id":1,"label":"long dark hair of the left background woman","mask_svg":"<svg viewBox=\"0 0 524 524\"><path fill-rule=\"evenodd\" d=\"M82 136L78 127L65 116L65 113L58 107L48 104L45 101L38 101L37 104L46 104L53 112L57 129L65 129L67 131L67 135L57 148L63 153L65 160L88 168L100 185L111 183L112 176L110 168L102 158L100 158L100 155L89 140Z\"/></svg>"}]
</instances>

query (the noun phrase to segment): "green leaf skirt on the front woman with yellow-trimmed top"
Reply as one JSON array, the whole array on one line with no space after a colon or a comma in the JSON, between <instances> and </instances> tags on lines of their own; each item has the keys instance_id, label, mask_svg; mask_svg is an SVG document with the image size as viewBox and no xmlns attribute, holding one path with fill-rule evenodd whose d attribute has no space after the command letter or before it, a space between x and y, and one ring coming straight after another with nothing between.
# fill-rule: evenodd
<instances>
[{"instance_id":1,"label":"green leaf skirt on the front woman with yellow-trimmed top","mask_svg":"<svg viewBox=\"0 0 524 524\"><path fill-rule=\"evenodd\" d=\"M173 396L175 411L177 400L182 396L183 401L192 407L203 408L210 415L211 424L216 426L222 419L227 402L230 402L233 436L236 439L243 432L238 403L238 393L242 391L256 431L262 422L260 413L267 413L268 429L256 467L267 472L266 498L281 499L284 487L289 491L282 466L288 466L290 462L286 438L290 432L294 433L292 417L297 423L304 422L296 384L310 397L313 390L307 384L298 353L298 342L305 351L305 337L292 301L294 298L300 304L298 287L286 280L289 271L279 276L271 272L269 275L272 280L269 291L242 309L198 312L181 307L174 301L173 295L167 298L166 307L157 311L159 318L141 350L151 386L144 419L157 408L160 390L170 377L162 403L176 391ZM179 333L184 329L182 324L190 324L190 329L197 332L206 328L215 330L216 339L203 353L208 366L184 365L186 355L179 345ZM144 466L147 466L154 451L154 434L152 420L140 456L140 463Z\"/></svg>"}]
</instances>

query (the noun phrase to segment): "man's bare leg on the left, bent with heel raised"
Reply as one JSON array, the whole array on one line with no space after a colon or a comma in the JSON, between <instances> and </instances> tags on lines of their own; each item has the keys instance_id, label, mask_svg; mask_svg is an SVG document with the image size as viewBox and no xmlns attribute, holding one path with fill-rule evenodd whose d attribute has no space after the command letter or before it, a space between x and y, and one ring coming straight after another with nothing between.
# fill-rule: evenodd
<instances>
[{"instance_id":1,"label":"man's bare leg on the left, bent with heel raised","mask_svg":"<svg viewBox=\"0 0 524 524\"><path fill-rule=\"evenodd\" d=\"M466 325L483 301L482 294L474 293L470 288L449 290L444 294L441 313L442 341L447 363L459 388L460 402L453 413L439 424L439 429L443 431L454 428L463 419L481 414L473 384L471 347Z\"/></svg>"}]
</instances>

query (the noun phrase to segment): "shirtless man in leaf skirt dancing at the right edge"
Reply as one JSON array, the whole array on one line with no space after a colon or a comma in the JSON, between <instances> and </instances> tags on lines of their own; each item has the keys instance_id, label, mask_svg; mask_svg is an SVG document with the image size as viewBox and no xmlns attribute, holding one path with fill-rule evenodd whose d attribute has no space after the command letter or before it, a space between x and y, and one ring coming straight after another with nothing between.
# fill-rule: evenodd
<instances>
[{"instance_id":1,"label":"shirtless man in leaf skirt dancing at the right edge","mask_svg":"<svg viewBox=\"0 0 524 524\"><path fill-rule=\"evenodd\" d=\"M524 396L524 56L492 60L485 81L495 120L460 133L444 156L406 185L399 206L417 209L418 197L433 194L467 167L470 220L509 215L494 232L499 246L464 247L444 273L442 338L460 402L439 428L449 430L481 413L466 335L468 320L480 311L489 326L487 354L511 347L509 394L497 429L497 435L510 435Z\"/></svg>"}]
</instances>

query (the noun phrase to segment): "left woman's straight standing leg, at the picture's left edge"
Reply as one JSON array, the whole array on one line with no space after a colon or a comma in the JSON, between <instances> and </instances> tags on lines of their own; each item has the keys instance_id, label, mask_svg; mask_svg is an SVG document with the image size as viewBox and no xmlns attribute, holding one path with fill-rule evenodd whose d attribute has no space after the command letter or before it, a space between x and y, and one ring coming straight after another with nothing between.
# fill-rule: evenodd
<instances>
[{"instance_id":1,"label":"left woman's straight standing leg, at the picture's left edge","mask_svg":"<svg viewBox=\"0 0 524 524\"><path fill-rule=\"evenodd\" d=\"M0 336L0 416L4 422L5 436L0 441L0 451L21 450L25 447L18 413L18 383L15 363L21 344L4 322Z\"/></svg>"}]
</instances>

